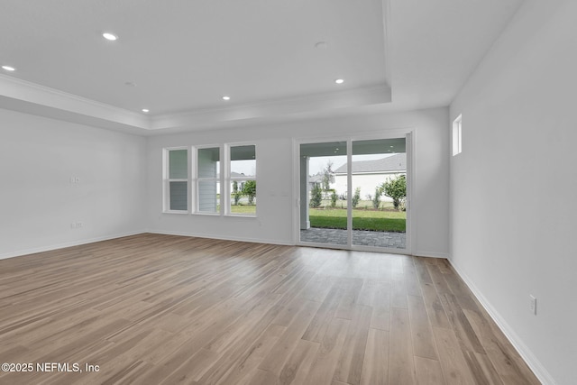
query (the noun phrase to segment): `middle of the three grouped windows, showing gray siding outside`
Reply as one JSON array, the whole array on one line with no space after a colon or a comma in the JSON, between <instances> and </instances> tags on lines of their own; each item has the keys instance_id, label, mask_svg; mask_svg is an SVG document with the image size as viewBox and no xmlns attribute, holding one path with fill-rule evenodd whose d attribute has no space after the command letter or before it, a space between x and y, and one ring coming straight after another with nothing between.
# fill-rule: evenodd
<instances>
[{"instance_id":1,"label":"middle of the three grouped windows, showing gray siding outside","mask_svg":"<svg viewBox=\"0 0 577 385\"><path fill-rule=\"evenodd\" d=\"M220 213L220 148L197 149L197 212Z\"/></svg>"}]
</instances>

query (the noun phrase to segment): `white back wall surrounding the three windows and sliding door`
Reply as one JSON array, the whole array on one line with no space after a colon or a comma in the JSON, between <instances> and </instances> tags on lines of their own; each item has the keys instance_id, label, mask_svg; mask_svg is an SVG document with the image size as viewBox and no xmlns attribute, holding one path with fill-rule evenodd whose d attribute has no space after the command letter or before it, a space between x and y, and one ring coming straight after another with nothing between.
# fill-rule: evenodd
<instances>
[{"instance_id":1,"label":"white back wall surrounding the three windows and sliding door","mask_svg":"<svg viewBox=\"0 0 577 385\"><path fill-rule=\"evenodd\" d=\"M416 141L417 182L413 201L415 246L419 255L448 253L448 109L436 108L396 114L352 115L346 118L308 120L179 133L150 137L148 141L148 222L152 232L191 234L214 238L293 243L293 139L333 140L352 133L384 133L413 128ZM222 142L257 145L258 213L256 218L162 214L162 148Z\"/></svg>"}]
</instances>

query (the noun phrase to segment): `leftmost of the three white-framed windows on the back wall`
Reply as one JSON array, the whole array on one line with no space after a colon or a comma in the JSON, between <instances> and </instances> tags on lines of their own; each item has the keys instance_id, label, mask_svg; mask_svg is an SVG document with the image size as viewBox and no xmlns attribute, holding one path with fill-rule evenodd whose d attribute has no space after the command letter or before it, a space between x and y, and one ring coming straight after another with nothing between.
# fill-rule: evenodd
<instances>
[{"instance_id":1,"label":"leftmost of the three white-framed windows on the back wall","mask_svg":"<svg viewBox=\"0 0 577 385\"><path fill-rule=\"evenodd\" d=\"M188 212L188 150L166 149L164 211Z\"/></svg>"}]
</instances>

